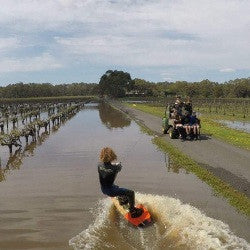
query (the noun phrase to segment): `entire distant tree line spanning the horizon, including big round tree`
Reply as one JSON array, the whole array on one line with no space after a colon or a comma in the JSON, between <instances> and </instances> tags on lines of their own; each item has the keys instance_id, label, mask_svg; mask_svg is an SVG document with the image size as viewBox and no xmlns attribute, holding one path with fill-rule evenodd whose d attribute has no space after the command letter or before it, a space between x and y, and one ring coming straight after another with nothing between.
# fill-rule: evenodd
<instances>
[{"instance_id":1,"label":"entire distant tree line spanning the horizon, including big round tree","mask_svg":"<svg viewBox=\"0 0 250 250\"><path fill-rule=\"evenodd\" d=\"M132 79L128 72L108 70L99 83L51 83L22 82L0 87L0 98L28 98L50 96L100 95L110 97L141 96L190 96L192 98L250 98L250 77L217 83L209 80L200 82L150 82Z\"/></svg>"}]
</instances>

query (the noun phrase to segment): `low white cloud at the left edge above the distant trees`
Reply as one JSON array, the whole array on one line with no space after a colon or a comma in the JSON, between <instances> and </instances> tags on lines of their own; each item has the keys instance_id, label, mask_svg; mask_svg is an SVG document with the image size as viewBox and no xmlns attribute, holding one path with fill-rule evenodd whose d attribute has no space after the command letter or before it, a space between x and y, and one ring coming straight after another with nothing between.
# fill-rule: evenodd
<instances>
[{"instance_id":1,"label":"low white cloud at the left edge above the distant trees","mask_svg":"<svg viewBox=\"0 0 250 250\"><path fill-rule=\"evenodd\" d=\"M58 63L51 55L44 53L41 56L23 59L8 59L3 58L0 61L0 72L31 72L52 70L61 68L62 65Z\"/></svg>"}]
</instances>

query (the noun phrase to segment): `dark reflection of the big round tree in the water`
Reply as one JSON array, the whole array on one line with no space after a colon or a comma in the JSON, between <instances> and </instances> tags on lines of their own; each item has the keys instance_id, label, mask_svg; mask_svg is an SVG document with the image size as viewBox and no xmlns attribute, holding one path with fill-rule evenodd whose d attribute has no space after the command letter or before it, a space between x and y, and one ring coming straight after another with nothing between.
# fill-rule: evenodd
<instances>
[{"instance_id":1,"label":"dark reflection of the big round tree in the water","mask_svg":"<svg viewBox=\"0 0 250 250\"><path fill-rule=\"evenodd\" d=\"M128 127L131 123L128 117L106 103L99 104L99 116L102 123L109 129Z\"/></svg>"}]
</instances>

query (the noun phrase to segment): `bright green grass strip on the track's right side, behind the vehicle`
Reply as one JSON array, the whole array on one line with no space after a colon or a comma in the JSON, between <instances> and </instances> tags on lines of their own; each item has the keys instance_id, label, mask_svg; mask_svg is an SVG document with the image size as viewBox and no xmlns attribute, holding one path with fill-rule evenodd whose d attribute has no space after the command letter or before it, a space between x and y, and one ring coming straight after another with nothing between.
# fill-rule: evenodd
<instances>
[{"instance_id":1,"label":"bright green grass strip on the track's right side, behind the vehicle","mask_svg":"<svg viewBox=\"0 0 250 250\"><path fill-rule=\"evenodd\" d=\"M147 104L126 104L129 107L136 108L143 112L150 113L152 115L162 117L164 114L164 107L156 107ZM214 119L223 119L221 116L216 116ZM250 150L250 134L235 129L231 129L222 125L214 120L212 116L203 115L201 117L202 132L212 135L218 139L226 141L237 147Z\"/></svg>"}]
</instances>

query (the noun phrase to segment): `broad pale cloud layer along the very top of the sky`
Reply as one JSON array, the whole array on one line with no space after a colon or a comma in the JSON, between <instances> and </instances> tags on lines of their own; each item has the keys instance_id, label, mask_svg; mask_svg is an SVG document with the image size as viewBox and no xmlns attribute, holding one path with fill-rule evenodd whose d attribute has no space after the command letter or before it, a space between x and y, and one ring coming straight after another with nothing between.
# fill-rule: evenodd
<instances>
[{"instance_id":1,"label":"broad pale cloud layer along the very top of the sky","mask_svg":"<svg viewBox=\"0 0 250 250\"><path fill-rule=\"evenodd\" d=\"M89 24L99 31L141 33L177 30L210 35L244 33L249 28L248 0L0 0L0 22L29 28L52 29L69 24ZM109 26L108 24L112 24ZM108 25L105 27L105 25ZM239 27L241 27L239 29ZM24 28L24 27L23 27Z\"/></svg>"}]
</instances>

